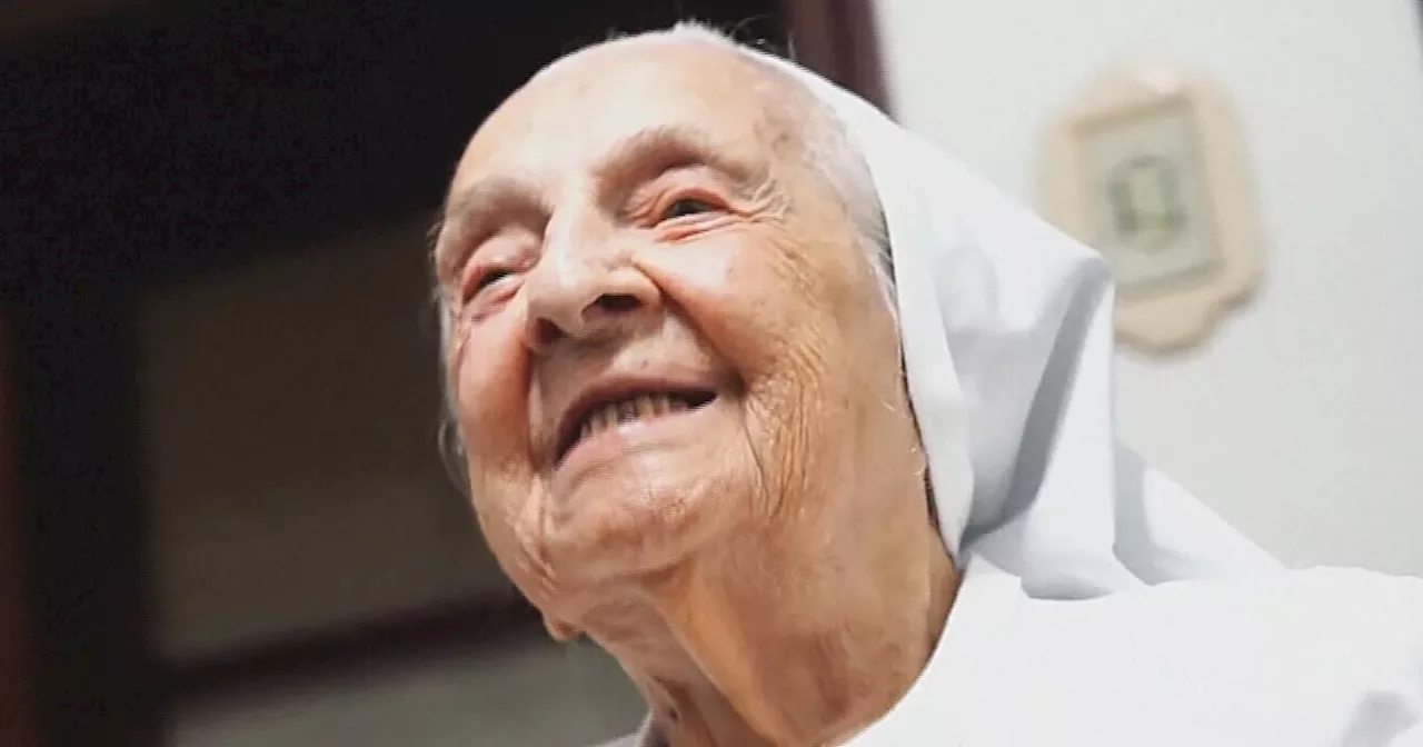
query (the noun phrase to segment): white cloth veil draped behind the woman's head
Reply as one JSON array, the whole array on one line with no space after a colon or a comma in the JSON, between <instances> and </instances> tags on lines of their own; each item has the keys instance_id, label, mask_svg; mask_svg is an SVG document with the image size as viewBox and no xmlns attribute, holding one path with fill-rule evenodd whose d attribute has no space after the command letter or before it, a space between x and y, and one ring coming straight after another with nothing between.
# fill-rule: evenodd
<instances>
[{"instance_id":1,"label":"white cloth veil draped behind the woman's head","mask_svg":"<svg viewBox=\"0 0 1423 747\"><path fill-rule=\"evenodd\" d=\"M790 71L847 127L888 226L909 400L939 526L1036 598L1278 563L1117 443L1113 283L1057 232L859 97Z\"/></svg>"}]
</instances>

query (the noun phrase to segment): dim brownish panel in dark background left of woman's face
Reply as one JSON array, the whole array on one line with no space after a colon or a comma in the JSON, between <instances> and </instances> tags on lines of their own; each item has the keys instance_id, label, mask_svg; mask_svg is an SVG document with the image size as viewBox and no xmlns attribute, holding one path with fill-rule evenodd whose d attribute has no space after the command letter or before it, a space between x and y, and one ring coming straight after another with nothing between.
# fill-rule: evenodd
<instances>
[{"instance_id":1,"label":"dim brownish panel in dark background left of woman's face","mask_svg":"<svg viewBox=\"0 0 1423 747\"><path fill-rule=\"evenodd\" d=\"M435 452L425 228L350 235L145 300L164 653L509 593Z\"/></svg>"}]
</instances>

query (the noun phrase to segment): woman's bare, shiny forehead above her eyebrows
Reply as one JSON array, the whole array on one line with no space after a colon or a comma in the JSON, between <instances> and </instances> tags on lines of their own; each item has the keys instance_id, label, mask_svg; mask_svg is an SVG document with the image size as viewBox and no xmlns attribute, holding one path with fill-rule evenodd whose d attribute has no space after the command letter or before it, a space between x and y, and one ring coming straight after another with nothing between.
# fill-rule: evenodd
<instances>
[{"instance_id":1,"label":"woman's bare, shiny forehead above her eyebrows","mask_svg":"<svg viewBox=\"0 0 1423 747\"><path fill-rule=\"evenodd\" d=\"M770 77L731 50L632 40L566 57L511 95L470 141L451 192L488 176L586 175L629 145L680 141L754 169L778 142Z\"/></svg>"}]
</instances>

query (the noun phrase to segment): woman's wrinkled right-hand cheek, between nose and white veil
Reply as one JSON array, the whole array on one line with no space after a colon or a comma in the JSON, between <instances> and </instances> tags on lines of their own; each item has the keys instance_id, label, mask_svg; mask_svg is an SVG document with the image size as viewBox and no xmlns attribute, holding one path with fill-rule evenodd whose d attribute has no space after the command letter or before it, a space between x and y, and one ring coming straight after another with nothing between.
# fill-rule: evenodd
<instances>
[{"instance_id":1,"label":"woman's wrinkled right-hand cheek, between nose and white veil","mask_svg":"<svg viewBox=\"0 0 1423 747\"><path fill-rule=\"evenodd\" d=\"M854 350L842 319L855 302L844 248L778 233L682 248L656 277L746 384L746 435L764 472L757 508L773 515L827 491L847 461Z\"/></svg>"}]
</instances>

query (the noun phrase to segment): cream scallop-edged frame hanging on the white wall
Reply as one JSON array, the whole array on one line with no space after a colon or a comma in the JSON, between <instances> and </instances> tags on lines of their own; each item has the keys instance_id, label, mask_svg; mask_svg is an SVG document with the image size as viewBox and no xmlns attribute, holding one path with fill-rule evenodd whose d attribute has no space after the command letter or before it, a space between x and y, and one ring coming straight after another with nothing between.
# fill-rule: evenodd
<instances>
[{"instance_id":1,"label":"cream scallop-edged frame hanging on the white wall","mask_svg":"<svg viewBox=\"0 0 1423 747\"><path fill-rule=\"evenodd\" d=\"M1103 77L1049 131L1043 213L1111 265L1130 347L1192 347L1257 289L1245 164L1225 95L1168 68Z\"/></svg>"}]
</instances>

